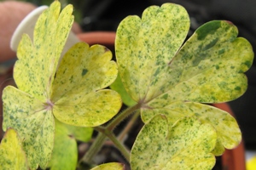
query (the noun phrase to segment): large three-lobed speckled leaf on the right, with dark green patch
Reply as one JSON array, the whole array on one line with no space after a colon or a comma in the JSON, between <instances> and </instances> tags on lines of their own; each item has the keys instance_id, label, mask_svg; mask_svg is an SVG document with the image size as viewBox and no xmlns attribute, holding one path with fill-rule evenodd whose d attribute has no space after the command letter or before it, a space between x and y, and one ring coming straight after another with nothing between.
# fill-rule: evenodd
<instances>
[{"instance_id":1,"label":"large three-lobed speckled leaf on the right, with dark green patch","mask_svg":"<svg viewBox=\"0 0 256 170\"><path fill-rule=\"evenodd\" d=\"M195 102L225 102L241 96L247 89L244 72L252 65L253 50L228 21L208 22L182 46L188 31L187 12L172 3L147 8L142 20L125 18L115 42L119 75L127 93L141 106L143 122L159 114L172 123L195 115L218 131L213 152L221 155L224 147L232 149L241 141L237 122L224 111ZM219 118L224 121L218 122Z\"/></svg>"}]
</instances>

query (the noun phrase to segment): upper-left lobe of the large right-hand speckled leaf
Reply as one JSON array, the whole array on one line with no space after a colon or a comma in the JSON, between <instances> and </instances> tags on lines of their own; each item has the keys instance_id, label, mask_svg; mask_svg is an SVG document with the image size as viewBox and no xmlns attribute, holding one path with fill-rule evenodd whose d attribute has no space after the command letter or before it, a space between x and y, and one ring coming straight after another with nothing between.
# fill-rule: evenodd
<instances>
[{"instance_id":1,"label":"upper-left lobe of the large right-hand speckled leaf","mask_svg":"<svg viewBox=\"0 0 256 170\"><path fill-rule=\"evenodd\" d=\"M152 6L142 20L128 16L119 24L115 51L119 75L131 98L139 102L154 99L171 81L168 63L189 31L189 15L176 4Z\"/></svg>"}]
</instances>

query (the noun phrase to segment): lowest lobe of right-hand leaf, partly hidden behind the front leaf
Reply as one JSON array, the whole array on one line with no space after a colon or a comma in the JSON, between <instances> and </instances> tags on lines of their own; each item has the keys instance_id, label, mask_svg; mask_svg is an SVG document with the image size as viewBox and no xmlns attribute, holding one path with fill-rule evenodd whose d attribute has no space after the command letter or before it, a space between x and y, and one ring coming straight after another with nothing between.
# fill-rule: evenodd
<instances>
[{"instance_id":1,"label":"lowest lobe of right-hand leaf, partly hidden behind the front leaf","mask_svg":"<svg viewBox=\"0 0 256 170\"><path fill-rule=\"evenodd\" d=\"M191 102L172 102L170 105L158 107L154 102L148 104L154 110L142 109L143 120L148 122L150 117L154 117L159 113L164 114L168 122L173 124L178 118L183 116L197 116L201 122L208 122L216 129L218 134L218 144L214 150L216 156L224 153L224 148L234 149L241 142L241 131L233 116L226 111L210 105L202 105Z\"/></svg>"}]
</instances>

